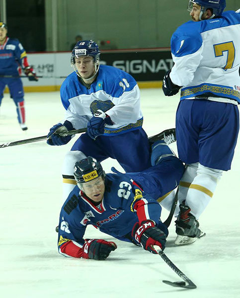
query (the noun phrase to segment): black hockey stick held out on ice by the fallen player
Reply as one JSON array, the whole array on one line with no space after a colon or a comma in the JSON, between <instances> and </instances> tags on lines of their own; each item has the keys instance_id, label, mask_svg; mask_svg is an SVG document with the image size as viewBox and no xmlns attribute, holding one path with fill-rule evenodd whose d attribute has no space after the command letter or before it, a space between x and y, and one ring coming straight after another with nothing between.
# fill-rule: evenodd
<instances>
[{"instance_id":1,"label":"black hockey stick held out on ice by the fallen player","mask_svg":"<svg viewBox=\"0 0 240 298\"><path fill-rule=\"evenodd\" d=\"M153 245L154 249L158 252L162 260L180 277L184 280L184 282L169 282L162 281L164 284L173 287L186 288L186 289L196 289L197 286L184 274L179 270L171 260L164 254L164 252L160 249L158 245Z\"/></svg>"}]
</instances>

